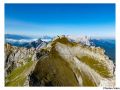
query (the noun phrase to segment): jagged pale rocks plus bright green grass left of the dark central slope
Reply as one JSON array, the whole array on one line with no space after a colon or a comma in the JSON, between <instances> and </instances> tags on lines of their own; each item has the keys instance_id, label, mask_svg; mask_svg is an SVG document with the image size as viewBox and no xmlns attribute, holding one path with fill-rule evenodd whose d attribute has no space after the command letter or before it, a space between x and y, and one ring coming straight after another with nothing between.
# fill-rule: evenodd
<instances>
[{"instance_id":1,"label":"jagged pale rocks plus bright green grass left of the dark central slope","mask_svg":"<svg viewBox=\"0 0 120 90\"><path fill-rule=\"evenodd\" d=\"M16 47L5 44L5 86L29 86L29 75L46 45L39 48Z\"/></svg>"}]
</instances>

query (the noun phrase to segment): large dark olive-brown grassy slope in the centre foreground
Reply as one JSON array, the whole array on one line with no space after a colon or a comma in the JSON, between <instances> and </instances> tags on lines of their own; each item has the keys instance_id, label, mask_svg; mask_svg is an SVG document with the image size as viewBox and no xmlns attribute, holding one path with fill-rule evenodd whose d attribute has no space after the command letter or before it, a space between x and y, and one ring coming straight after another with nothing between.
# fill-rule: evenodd
<instances>
[{"instance_id":1,"label":"large dark olive-brown grassy slope in the centre foreground","mask_svg":"<svg viewBox=\"0 0 120 90\"><path fill-rule=\"evenodd\" d=\"M41 58L34 74L45 86L78 86L78 82L69 64L57 53Z\"/></svg>"}]
</instances>

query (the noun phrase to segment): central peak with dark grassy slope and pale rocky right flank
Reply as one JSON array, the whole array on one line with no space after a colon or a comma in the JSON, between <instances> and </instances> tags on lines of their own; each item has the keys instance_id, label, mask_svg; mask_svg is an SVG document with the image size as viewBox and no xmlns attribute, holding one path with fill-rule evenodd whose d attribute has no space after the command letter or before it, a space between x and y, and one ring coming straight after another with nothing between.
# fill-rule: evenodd
<instances>
[{"instance_id":1,"label":"central peak with dark grassy slope and pale rocky right flank","mask_svg":"<svg viewBox=\"0 0 120 90\"><path fill-rule=\"evenodd\" d=\"M113 67L103 49L73 43L65 36L57 36L52 40L48 54L39 59L31 75L31 80L36 78L37 81L31 85L100 86L106 80L107 84L113 80Z\"/></svg>"}]
</instances>

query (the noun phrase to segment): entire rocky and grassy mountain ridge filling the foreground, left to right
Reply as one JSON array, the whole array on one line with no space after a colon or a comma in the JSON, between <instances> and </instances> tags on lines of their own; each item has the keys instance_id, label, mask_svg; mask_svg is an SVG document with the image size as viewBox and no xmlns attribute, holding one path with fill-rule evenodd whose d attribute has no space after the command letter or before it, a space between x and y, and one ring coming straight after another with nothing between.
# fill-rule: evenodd
<instances>
[{"instance_id":1,"label":"entire rocky and grassy mountain ridge filling the foreground, left to right","mask_svg":"<svg viewBox=\"0 0 120 90\"><path fill-rule=\"evenodd\" d=\"M37 47L6 43L5 86L114 86L113 61L87 38L84 43L64 35Z\"/></svg>"}]
</instances>

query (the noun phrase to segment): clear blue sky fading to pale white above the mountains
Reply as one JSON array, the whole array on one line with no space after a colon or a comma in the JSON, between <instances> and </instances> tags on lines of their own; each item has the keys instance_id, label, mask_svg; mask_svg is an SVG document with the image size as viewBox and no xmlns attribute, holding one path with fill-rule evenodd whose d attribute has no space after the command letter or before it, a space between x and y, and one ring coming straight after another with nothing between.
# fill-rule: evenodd
<instances>
[{"instance_id":1,"label":"clear blue sky fading to pale white above the mountains","mask_svg":"<svg viewBox=\"0 0 120 90\"><path fill-rule=\"evenodd\" d=\"M5 33L115 36L115 4L5 4Z\"/></svg>"}]
</instances>

